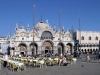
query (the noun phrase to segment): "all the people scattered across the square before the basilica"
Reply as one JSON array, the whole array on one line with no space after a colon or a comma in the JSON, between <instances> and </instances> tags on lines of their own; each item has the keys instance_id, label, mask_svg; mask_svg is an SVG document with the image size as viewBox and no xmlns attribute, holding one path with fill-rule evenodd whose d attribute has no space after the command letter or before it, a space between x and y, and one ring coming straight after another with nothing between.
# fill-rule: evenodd
<instances>
[{"instance_id":1,"label":"all the people scattered across the square before the basilica","mask_svg":"<svg viewBox=\"0 0 100 75\"><path fill-rule=\"evenodd\" d=\"M99 62L100 62L100 50L97 52L97 54L95 54L96 56L94 57L94 58L96 58L96 59L98 59L99 60ZM38 55L39 56L39 55ZM27 56L24 56L24 57L28 57L28 58L37 58L38 56L30 56L30 55L27 55ZM42 55L41 55L42 56ZM46 53L45 55L43 55L44 57L56 57L56 58L60 58L60 59L62 59L62 61L60 62L61 64L60 65L67 65L68 63L67 63L67 61L66 61L66 58L68 58L68 57L74 57L74 58L82 58L82 53L81 53L81 51L74 51L74 53L73 54L71 54L70 52L67 52L67 53L65 53L65 54L55 54L55 55L53 55L53 54L50 54L50 53ZM10 56L10 57L12 57L12 56ZM14 56L15 57L15 56ZM22 57L22 55L18 55L17 57ZM8 55L7 55L7 53L5 53L5 54L3 54L3 59L4 59L4 64L3 64L3 66L4 67L6 67L6 65L7 65L7 60L8 60ZM90 53L89 52L87 52L87 54L86 54L86 61L89 61L90 62L90 60L91 60L91 57L90 57Z\"/></svg>"}]
</instances>

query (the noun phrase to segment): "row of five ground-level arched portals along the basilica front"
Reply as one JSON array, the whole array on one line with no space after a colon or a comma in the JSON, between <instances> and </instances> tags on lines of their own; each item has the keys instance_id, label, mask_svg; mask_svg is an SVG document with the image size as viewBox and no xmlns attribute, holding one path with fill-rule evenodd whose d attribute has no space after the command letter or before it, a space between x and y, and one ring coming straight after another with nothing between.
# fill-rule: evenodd
<instances>
[{"instance_id":1,"label":"row of five ground-level arched portals along the basilica front","mask_svg":"<svg viewBox=\"0 0 100 75\"><path fill-rule=\"evenodd\" d=\"M35 54L46 54L46 53L66 53L66 52L72 52L72 44L68 43L64 45L64 43L58 43L57 46L54 46L54 43L50 40L46 40L42 43L41 49L38 47L36 43L31 43L29 46L27 46L25 43L20 43L18 45L18 52L21 55L26 55L28 53L28 47L30 54L35 55ZM55 49L55 48L56 49ZM55 52L56 50L56 52Z\"/></svg>"}]
</instances>

